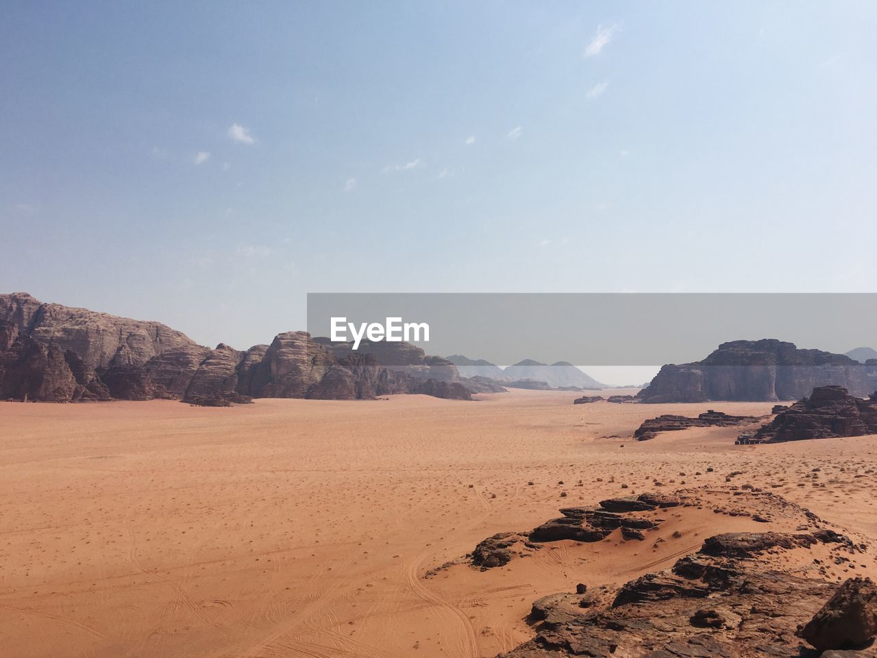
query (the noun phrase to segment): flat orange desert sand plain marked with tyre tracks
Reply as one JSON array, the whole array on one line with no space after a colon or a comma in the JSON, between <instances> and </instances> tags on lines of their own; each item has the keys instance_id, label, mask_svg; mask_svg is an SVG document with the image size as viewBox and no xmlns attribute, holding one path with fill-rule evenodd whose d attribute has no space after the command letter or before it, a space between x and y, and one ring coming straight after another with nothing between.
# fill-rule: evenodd
<instances>
[{"instance_id":1,"label":"flat orange desert sand plain marked with tyre tracks","mask_svg":"<svg viewBox=\"0 0 877 658\"><path fill-rule=\"evenodd\" d=\"M486 572L460 561L560 507L645 491L697 488L721 504L729 482L750 483L877 538L875 436L734 446L746 428L729 427L637 442L661 413L772 404L574 397L0 403L0 653L492 656L531 638L535 598L764 529L705 506L667 514L660 543L560 541ZM828 576L873 569L863 556Z\"/></svg>"}]
</instances>

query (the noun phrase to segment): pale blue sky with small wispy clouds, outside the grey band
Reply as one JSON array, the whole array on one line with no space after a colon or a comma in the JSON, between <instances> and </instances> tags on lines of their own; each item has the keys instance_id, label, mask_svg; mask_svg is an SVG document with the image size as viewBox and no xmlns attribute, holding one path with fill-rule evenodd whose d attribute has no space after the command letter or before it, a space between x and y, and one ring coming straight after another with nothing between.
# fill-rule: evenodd
<instances>
[{"instance_id":1,"label":"pale blue sky with small wispy clouds, outside the grey band","mask_svg":"<svg viewBox=\"0 0 877 658\"><path fill-rule=\"evenodd\" d=\"M2 292L246 348L308 292L875 291L871 2L0 11Z\"/></svg>"}]
</instances>

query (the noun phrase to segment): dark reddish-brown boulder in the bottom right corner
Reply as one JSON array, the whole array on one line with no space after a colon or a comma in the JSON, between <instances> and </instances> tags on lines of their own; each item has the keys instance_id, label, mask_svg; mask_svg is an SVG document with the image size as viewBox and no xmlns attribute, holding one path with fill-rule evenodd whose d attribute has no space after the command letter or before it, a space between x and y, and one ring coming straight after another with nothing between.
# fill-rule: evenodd
<instances>
[{"instance_id":1,"label":"dark reddish-brown boulder in the bottom right corner","mask_svg":"<svg viewBox=\"0 0 877 658\"><path fill-rule=\"evenodd\" d=\"M877 585L848 579L799 634L820 651L863 647L877 635Z\"/></svg>"}]
</instances>

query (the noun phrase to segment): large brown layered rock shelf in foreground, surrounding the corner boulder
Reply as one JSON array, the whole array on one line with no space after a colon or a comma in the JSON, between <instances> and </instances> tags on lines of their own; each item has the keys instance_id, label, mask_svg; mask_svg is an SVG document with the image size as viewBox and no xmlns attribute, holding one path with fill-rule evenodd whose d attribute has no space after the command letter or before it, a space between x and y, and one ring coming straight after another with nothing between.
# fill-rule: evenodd
<instances>
[{"instance_id":1,"label":"large brown layered rock shelf in foreground, surrounding the corner boulder","mask_svg":"<svg viewBox=\"0 0 877 658\"><path fill-rule=\"evenodd\" d=\"M626 507L638 498L624 501ZM779 502L757 496L750 502L758 501ZM704 502L687 497L683 504ZM593 509L570 508L568 518ZM505 542L514 535L495 537ZM838 589L824 570L791 566L795 561L845 563L860 550L827 530L709 537L700 550L681 557L671 569L645 573L620 587L579 584L575 593L538 598L528 618L535 636L501 658L816 655L797 635L818 650L861 648L877 632L873 583L858 578ZM795 551L806 557L787 555ZM814 559L814 554L821 559ZM513 551L510 559L514 558Z\"/></svg>"}]
</instances>

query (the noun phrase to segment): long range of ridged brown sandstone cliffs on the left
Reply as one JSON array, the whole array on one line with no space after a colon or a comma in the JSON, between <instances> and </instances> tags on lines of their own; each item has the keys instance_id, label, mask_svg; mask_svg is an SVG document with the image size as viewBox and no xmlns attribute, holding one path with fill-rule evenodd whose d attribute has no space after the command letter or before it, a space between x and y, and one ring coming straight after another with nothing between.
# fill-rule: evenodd
<instances>
[{"instance_id":1,"label":"long range of ridged brown sandstone cliffs on the left","mask_svg":"<svg viewBox=\"0 0 877 658\"><path fill-rule=\"evenodd\" d=\"M197 345L157 322L0 295L0 399L182 399L222 406L252 397L367 399L395 393L471 399L456 367L408 343L349 344L281 333L240 352ZM385 362L384 362L385 361ZM502 390L473 383L477 390Z\"/></svg>"}]
</instances>

